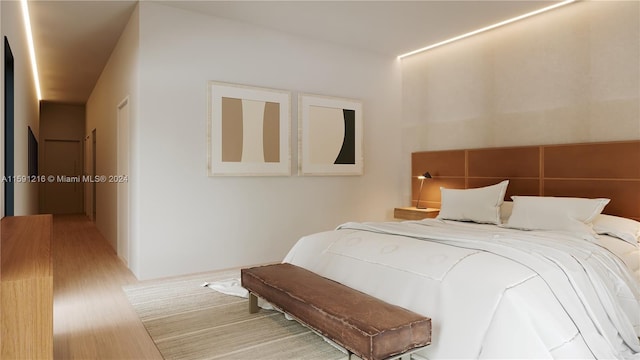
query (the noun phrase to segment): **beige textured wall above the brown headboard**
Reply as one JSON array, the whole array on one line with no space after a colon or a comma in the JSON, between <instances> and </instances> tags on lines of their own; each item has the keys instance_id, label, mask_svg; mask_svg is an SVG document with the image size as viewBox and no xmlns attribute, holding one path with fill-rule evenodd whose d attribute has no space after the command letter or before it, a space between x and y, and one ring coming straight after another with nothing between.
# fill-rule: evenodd
<instances>
[{"instance_id":1,"label":"beige textured wall above the brown headboard","mask_svg":"<svg viewBox=\"0 0 640 360\"><path fill-rule=\"evenodd\" d=\"M638 39L640 2L581 1L406 58L403 158L640 139Z\"/></svg>"}]
</instances>

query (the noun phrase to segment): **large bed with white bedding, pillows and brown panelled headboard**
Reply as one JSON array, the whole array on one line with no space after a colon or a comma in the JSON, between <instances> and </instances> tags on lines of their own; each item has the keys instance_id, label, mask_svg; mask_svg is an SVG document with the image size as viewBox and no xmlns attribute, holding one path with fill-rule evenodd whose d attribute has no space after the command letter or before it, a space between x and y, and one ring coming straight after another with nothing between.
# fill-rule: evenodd
<instances>
[{"instance_id":1,"label":"large bed with white bedding, pillows and brown panelled headboard","mask_svg":"<svg viewBox=\"0 0 640 360\"><path fill-rule=\"evenodd\" d=\"M416 359L638 359L638 164L640 141L414 153L438 218L345 223L284 262L431 317Z\"/></svg>"}]
</instances>

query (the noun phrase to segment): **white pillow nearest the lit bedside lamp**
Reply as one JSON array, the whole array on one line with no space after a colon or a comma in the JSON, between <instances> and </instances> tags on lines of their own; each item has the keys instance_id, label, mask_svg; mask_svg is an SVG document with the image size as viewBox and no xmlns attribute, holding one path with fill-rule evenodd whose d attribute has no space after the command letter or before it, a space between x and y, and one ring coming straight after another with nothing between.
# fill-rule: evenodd
<instances>
[{"instance_id":1,"label":"white pillow nearest the lit bedside lamp","mask_svg":"<svg viewBox=\"0 0 640 360\"><path fill-rule=\"evenodd\" d=\"M440 188L438 219L500 224L500 205L509 180L475 189Z\"/></svg>"}]
</instances>

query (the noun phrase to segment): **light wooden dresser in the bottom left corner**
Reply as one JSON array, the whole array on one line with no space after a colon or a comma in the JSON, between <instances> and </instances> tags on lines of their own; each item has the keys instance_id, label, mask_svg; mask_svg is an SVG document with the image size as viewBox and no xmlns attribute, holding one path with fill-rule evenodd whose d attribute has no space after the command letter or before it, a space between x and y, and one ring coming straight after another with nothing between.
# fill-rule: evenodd
<instances>
[{"instance_id":1,"label":"light wooden dresser in the bottom left corner","mask_svg":"<svg viewBox=\"0 0 640 360\"><path fill-rule=\"evenodd\" d=\"M53 358L51 215L0 221L0 358Z\"/></svg>"}]
</instances>

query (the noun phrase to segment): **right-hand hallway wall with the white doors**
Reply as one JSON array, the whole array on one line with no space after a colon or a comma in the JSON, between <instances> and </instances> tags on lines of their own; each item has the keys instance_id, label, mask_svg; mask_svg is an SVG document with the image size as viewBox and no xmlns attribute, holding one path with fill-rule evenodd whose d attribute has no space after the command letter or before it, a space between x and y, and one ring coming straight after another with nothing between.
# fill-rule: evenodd
<instances>
[{"instance_id":1,"label":"right-hand hallway wall with the white doors","mask_svg":"<svg viewBox=\"0 0 640 360\"><path fill-rule=\"evenodd\" d=\"M135 118L138 94L138 10L134 10L86 105L86 134L96 129L96 174L117 174L117 109L127 96ZM86 188L85 197L90 187ZM96 184L96 226L117 250L116 184ZM126 210L126 209L125 209Z\"/></svg>"}]
</instances>

